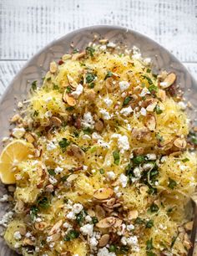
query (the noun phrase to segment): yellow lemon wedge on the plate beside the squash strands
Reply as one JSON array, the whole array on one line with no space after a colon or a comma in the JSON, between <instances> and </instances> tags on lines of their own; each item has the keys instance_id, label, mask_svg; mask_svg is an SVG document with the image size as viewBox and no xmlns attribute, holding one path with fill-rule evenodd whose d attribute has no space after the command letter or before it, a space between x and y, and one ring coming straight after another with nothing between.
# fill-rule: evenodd
<instances>
[{"instance_id":1,"label":"yellow lemon wedge on the plate beside the squash strands","mask_svg":"<svg viewBox=\"0 0 197 256\"><path fill-rule=\"evenodd\" d=\"M21 161L33 153L33 145L22 140L12 141L3 149L0 156L0 179L4 184L16 183L15 174Z\"/></svg>"}]
</instances>

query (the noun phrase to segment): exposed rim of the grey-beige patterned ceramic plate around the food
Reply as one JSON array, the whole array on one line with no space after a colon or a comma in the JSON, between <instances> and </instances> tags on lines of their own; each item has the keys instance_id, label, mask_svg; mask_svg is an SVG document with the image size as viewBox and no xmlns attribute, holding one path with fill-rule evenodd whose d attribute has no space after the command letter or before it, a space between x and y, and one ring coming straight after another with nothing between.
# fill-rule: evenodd
<instances>
[{"instance_id":1,"label":"exposed rim of the grey-beige patterned ceramic plate around the food","mask_svg":"<svg viewBox=\"0 0 197 256\"><path fill-rule=\"evenodd\" d=\"M32 59L28 61L23 69L16 75L11 84L8 86L5 94L0 101L0 141L9 133L9 117L13 115L13 110L16 108L16 99L25 100L28 98L28 91L33 80L42 83L42 77L48 71L51 61L58 60L65 53L72 49L70 44L74 45L76 49L83 49L87 44L93 40L93 35L98 38L108 38L109 41L115 44L126 44L128 48L134 45L141 49L143 57L150 57L154 64L155 72L160 69L173 71L177 74L177 84L180 89L184 90L184 97L187 101L197 107L197 83L189 74L184 65L179 62L172 54L169 53L159 44L144 35L129 30L128 28L116 26L93 26L88 28L81 28L72 33L68 33L58 40L48 44L44 49L38 52ZM192 120L196 118L196 113L190 110L189 116ZM0 144L0 150L3 148ZM3 195L5 188L0 184L0 197ZM0 218L6 212L7 205L3 202L0 205ZM0 255L13 256L8 246L0 238Z\"/></svg>"}]
</instances>

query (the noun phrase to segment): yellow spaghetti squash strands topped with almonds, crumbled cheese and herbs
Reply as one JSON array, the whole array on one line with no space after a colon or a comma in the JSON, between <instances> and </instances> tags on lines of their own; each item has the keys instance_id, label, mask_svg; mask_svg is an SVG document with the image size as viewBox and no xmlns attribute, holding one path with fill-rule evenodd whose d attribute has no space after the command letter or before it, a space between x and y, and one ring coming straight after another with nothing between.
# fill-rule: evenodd
<instances>
[{"instance_id":1,"label":"yellow spaghetti squash strands topped with almonds, crumbled cheese and herbs","mask_svg":"<svg viewBox=\"0 0 197 256\"><path fill-rule=\"evenodd\" d=\"M25 256L187 255L196 155L175 84L135 47L90 44L52 62L14 128L32 153L15 166L8 245Z\"/></svg>"}]
</instances>

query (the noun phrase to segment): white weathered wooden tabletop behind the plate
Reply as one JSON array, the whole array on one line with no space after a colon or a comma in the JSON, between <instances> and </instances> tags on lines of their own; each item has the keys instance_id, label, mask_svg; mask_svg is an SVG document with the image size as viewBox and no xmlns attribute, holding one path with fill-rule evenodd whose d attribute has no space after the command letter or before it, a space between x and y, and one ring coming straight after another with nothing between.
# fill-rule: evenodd
<instances>
[{"instance_id":1,"label":"white weathered wooden tabletop behind the plate","mask_svg":"<svg viewBox=\"0 0 197 256\"><path fill-rule=\"evenodd\" d=\"M148 35L197 79L197 0L0 0L0 95L38 49L93 24Z\"/></svg>"}]
</instances>

